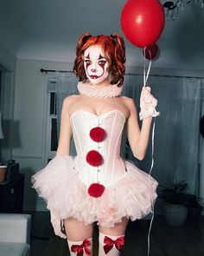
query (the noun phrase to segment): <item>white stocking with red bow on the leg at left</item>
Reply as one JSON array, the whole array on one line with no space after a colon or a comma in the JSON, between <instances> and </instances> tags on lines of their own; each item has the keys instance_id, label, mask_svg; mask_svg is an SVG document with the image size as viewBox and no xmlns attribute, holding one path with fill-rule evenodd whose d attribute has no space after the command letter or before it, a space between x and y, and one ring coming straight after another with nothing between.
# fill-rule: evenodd
<instances>
[{"instance_id":1,"label":"white stocking with red bow on the leg at left","mask_svg":"<svg viewBox=\"0 0 204 256\"><path fill-rule=\"evenodd\" d=\"M83 255L92 256L92 238L83 241L69 241L67 240L69 252L71 256ZM80 252L83 254L80 254ZM79 254L78 254L79 253Z\"/></svg>"}]
</instances>

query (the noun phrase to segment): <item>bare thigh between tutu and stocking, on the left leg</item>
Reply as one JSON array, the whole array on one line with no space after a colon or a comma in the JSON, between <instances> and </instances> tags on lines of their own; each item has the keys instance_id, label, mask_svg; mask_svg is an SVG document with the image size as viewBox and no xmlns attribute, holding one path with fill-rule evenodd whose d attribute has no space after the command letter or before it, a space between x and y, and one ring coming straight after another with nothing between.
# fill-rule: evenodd
<instances>
[{"instance_id":1,"label":"bare thigh between tutu and stocking, on the left leg","mask_svg":"<svg viewBox=\"0 0 204 256\"><path fill-rule=\"evenodd\" d=\"M83 222L69 218L64 220L67 240L82 241L92 237L92 224L85 225Z\"/></svg>"}]
</instances>

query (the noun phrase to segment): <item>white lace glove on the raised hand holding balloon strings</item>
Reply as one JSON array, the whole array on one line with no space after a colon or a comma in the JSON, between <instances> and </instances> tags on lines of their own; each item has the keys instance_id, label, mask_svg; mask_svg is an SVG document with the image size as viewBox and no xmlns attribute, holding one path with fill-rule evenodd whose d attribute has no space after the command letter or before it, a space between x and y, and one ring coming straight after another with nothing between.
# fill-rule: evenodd
<instances>
[{"instance_id":1,"label":"white lace glove on the raised hand holding balloon strings","mask_svg":"<svg viewBox=\"0 0 204 256\"><path fill-rule=\"evenodd\" d=\"M151 95L150 87L143 87L141 95L140 95L140 112L139 112L139 119L143 120L143 118L149 116L157 116L160 115L159 112L156 112L156 105L157 100L156 98Z\"/></svg>"}]
</instances>

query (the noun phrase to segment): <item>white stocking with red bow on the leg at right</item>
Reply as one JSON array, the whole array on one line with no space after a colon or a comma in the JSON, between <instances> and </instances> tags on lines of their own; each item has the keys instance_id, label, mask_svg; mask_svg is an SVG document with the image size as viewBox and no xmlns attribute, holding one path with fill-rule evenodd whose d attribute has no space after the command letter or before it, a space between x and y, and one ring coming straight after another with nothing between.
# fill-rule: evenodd
<instances>
[{"instance_id":1,"label":"white stocking with red bow on the leg at right","mask_svg":"<svg viewBox=\"0 0 204 256\"><path fill-rule=\"evenodd\" d=\"M124 235L99 233L99 256L119 256L124 247Z\"/></svg>"}]
</instances>

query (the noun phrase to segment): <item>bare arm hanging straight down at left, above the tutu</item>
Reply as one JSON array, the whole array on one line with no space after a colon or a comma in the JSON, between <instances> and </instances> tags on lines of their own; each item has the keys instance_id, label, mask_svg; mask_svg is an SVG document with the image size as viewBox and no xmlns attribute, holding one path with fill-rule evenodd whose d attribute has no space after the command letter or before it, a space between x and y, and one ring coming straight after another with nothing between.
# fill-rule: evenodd
<instances>
[{"instance_id":1,"label":"bare arm hanging straight down at left, above the tutu","mask_svg":"<svg viewBox=\"0 0 204 256\"><path fill-rule=\"evenodd\" d=\"M64 99L61 109L61 130L56 155L69 154L72 128L69 120L68 109L73 102L73 96Z\"/></svg>"}]
</instances>

